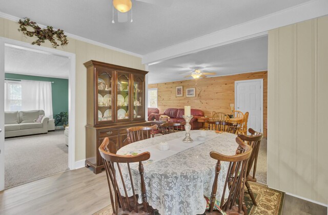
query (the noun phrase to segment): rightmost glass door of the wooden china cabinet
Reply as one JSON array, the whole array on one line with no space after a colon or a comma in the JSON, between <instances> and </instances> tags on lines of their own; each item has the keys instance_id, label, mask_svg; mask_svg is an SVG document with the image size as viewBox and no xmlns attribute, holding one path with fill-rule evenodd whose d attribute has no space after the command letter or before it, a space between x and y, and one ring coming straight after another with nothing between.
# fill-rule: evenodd
<instances>
[{"instance_id":1,"label":"rightmost glass door of the wooden china cabinet","mask_svg":"<svg viewBox=\"0 0 328 215\"><path fill-rule=\"evenodd\" d=\"M144 119L144 78L134 76L133 78L133 119Z\"/></svg>"}]
</instances>

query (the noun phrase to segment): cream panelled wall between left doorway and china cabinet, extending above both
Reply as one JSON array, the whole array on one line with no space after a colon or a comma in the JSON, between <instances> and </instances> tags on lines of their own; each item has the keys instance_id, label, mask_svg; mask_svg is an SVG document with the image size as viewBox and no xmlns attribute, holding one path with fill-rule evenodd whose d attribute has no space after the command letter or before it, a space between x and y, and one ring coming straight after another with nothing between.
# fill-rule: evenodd
<instances>
[{"instance_id":1,"label":"cream panelled wall between left doorway and china cabinet, extending above both","mask_svg":"<svg viewBox=\"0 0 328 215\"><path fill-rule=\"evenodd\" d=\"M26 38L22 32L18 32L18 24L0 18L0 36L19 41L31 43L33 38ZM128 55L125 53L113 51L103 47L95 46L80 40L69 39L69 44L66 47L58 47L58 50L63 50L76 54L76 128L75 128L75 161L86 158L86 133L85 125L87 123L87 70L83 63L88 60L99 60L112 63L124 67L145 70L145 66L141 63L141 58ZM52 48L49 42L46 42L44 47Z\"/></svg>"}]
</instances>

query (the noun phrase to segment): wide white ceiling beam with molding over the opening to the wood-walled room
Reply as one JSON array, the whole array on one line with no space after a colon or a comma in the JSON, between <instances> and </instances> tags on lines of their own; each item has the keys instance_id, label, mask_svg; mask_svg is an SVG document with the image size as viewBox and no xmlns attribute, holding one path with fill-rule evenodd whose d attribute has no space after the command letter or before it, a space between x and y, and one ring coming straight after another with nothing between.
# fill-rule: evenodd
<instances>
[{"instance_id":1,"label":"wide white ceiling beam with molding over the opening to the wood-walled room","mask_svg":"<svg viewBox=\"0 0 328 215\"><path fill-rule=\"evenodd\" d=\"M286 8L230 28L203 35L142 56L142 63L154 65L164 60L242 40L265 36L268 31L328 14L327 0L313 0Z\"/></svg>"}]
</instances>

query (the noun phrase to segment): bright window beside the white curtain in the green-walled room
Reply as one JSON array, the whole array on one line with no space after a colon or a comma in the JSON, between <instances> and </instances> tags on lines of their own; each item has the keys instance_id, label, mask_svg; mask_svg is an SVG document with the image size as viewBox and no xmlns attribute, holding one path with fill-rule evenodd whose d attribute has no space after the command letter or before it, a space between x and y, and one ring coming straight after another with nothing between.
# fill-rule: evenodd
<instances>
[{"instance_id":1,"label":"bright window beside the white curtain in the green-walled room","mask_svg":"<svg viewBox=\"0 0 328 215\"><path fill-rule=\"evenodd\" d=\"M22 111L22 84L5 81L5 111Z\"/></svg>"}]
</instances>

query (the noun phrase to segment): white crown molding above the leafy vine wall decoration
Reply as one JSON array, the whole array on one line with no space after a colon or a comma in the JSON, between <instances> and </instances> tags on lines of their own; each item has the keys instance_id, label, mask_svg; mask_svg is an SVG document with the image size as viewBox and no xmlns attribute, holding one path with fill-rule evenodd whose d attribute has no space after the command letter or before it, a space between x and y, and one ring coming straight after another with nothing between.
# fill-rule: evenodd
<instances>
[{"instance_id":1,"label":"white crown molding above the leafy vine wall decoration","mask_svg":"<svg viewBox=\"0 0 328 215\"><path fill-rule=\"evenodd\" d=\"M0 17L6 18L6 19L9 19L9 20L12 20L14 22L18 22L19 19L21 19L21 18L19 18L17 16L13 16L13 15L10 15L10 14L7 14L7 13L3 13L3 12L0 12ZM37 24L37 25L39 27L41 27L41 28L47 28L47 26L44 26L44 25L40 25L40 24ZM137 53L134 53L134 52L129 52L127 50L123 50L123 49L119 49L119 48L116 48L116 47L113 47L113 46L109 46L109 45L103 44L101 42L94 41L92 39L88 39L88 38L85 38L85 37L77 36L75 34L71 34L71 33L67 33L67 32L65 32L65 34L68 37L72 38L72 39L77 39L77 40L80 40L80 41L83 41L83 42L88 42L88 44L92 44L92 45L95 45L95 46L103 47L103 48L106 48L106 49L111 49L113 51L117 51L117 52L121 52L121 53L124 53L124 54L129 54L129 55L132 55L132 56L135 56L135 57L142 58L142 55L137 54Z\"/></svg>"}]
</instances>

